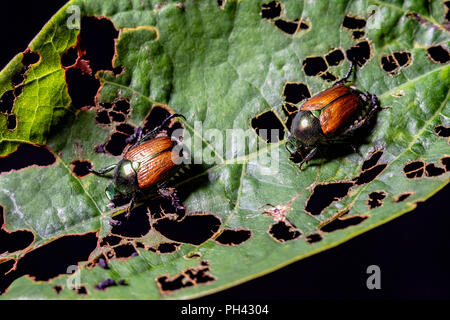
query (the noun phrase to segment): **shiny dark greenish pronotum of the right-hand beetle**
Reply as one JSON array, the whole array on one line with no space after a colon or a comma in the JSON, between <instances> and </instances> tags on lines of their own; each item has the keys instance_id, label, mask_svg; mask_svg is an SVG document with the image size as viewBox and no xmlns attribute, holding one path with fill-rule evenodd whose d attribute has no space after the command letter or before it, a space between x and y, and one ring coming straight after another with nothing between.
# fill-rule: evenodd
<instances>
[{"instance_id":1,"label":"shiny dark greenish pronotum of the right-hand beetle","mask_svg":"<svg viewBox=\"0 0 450 320\"><path fill-rule=\"evenodd\" d=\"M311 111L301 110L292 121L291 134L302 145L313 146L323 136L320 120Z\"/></svg>"}]
</instances>

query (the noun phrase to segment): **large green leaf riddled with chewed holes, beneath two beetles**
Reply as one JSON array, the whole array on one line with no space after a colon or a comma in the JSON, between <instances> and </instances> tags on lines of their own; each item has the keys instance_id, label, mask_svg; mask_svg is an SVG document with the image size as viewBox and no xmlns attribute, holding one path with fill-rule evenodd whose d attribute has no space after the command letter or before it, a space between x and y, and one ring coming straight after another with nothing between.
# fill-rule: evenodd
<instances>
[{"instance_id":1,"label":"large green leaf riddled with chewed holes, beneath two beetles","mask_svg":"<svg viewBox=\"0 0 450 320\"><path fill-rule=\"evenodd\" d=\"M432 3L69 1L0 72L1 298L199 297L414 209L450 177L448 10ZM300 170L292 119L349 62L381 108ZM119 171L93 170L158 128L192 162L127 216L132 195L105 194Z\"/></svg>"}]
</instances>

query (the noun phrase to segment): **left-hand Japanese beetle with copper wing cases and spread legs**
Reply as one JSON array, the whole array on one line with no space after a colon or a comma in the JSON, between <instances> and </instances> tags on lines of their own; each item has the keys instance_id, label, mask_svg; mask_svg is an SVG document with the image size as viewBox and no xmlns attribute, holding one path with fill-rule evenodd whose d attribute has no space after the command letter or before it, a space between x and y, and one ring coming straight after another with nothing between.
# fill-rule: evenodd
<instances>
[{"instance_id":1,"label":"left-hand Japanese beetle with copper wing cases and spread legs","mask_svg":"<svg viewBox=\"0 0 450 320\"><path fill-rule=\"evenodd\" d=\"M171 200L177 214L184 213L174 188L166 188L166 178L175 169L180 160L180 154L174 150L174 141L167 135L160 133L169 121L180 114L167 117L160 126L143 135L143 129L137 128L135 133L127 139L132 143L122 159L113 165L95 171L97 175L105 175L114 170L113 181L106 188L106 196L114 203L116 199L131 199L127 216L133 208L137 195L157 191L159 195Z\"/></svg>"}]
</instances>

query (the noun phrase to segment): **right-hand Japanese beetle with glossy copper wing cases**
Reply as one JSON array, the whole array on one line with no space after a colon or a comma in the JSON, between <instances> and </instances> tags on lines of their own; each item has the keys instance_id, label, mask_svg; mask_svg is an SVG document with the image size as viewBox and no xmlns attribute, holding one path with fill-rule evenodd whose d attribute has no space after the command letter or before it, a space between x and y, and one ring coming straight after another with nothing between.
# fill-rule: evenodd
<instances>
[{"instance_id":1,"label":"right-hand Japanese beetle with glossy copper wing cases","mask_svg":"<svg viewBox=\"0 0 450 320\"><path fill-rule=\"evenodd\" d=\"M366 126L379 109L374 94L346 85L352 71L353 63L350 62L350 68L341 80L308 99L295 115L286 149L291 156L302 148L307 152L299 164L300 168L321 148L351 142L355 132Z\"/></svg>"}]
</instances>

